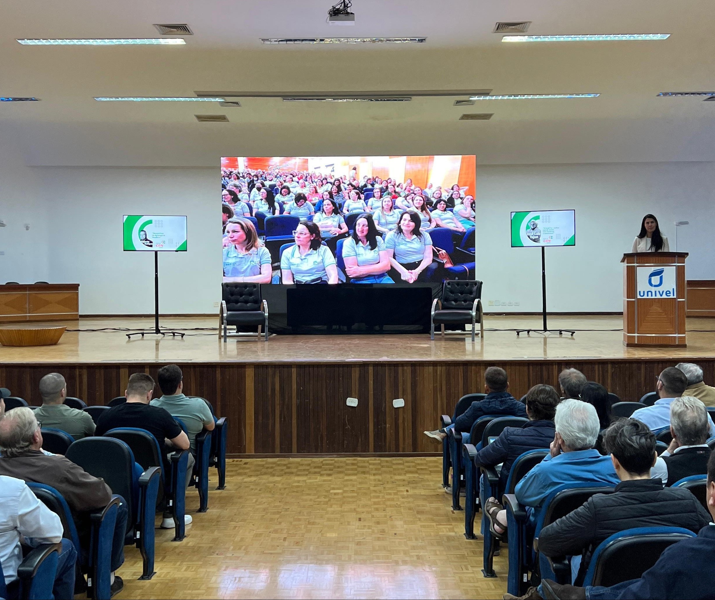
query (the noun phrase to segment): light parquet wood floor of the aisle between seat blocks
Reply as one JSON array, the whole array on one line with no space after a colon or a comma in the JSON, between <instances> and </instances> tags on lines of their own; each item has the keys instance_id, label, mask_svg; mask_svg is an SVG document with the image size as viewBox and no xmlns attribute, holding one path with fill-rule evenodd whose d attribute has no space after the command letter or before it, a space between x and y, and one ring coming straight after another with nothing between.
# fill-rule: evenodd
<instances>
[{"instance_id":1,"label":"light parquet wood floor of the aisle between seat blocks","mask_svg":"<svg viewBox=\"0 0 715 600\"><path fill-rule=\"evenodd\" d=\"M157 529L157 574L137 581L139 551L127 546L117 599L501 598L481 574L482 546L463 536L441 459L235 459L227 488L209 482L209 511L182 542ZM158 522L158 521L157 521ZM476 527L476 525L475 525Z\"/></svg>"}]
</instances>

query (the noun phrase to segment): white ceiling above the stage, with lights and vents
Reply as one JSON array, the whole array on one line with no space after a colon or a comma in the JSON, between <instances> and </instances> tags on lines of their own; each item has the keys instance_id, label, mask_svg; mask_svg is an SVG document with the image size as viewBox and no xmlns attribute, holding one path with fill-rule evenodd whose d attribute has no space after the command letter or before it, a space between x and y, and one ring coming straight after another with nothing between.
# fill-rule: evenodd
<instances>
[{"instance_id":1,"label":"white ceiling above the stage, with lights and vents","mask_svg":"<svg viewBox=\"0 0 715 600\"><path fill-rule=\"evenodd\" d=\"M353 0L354 27L325 24L333 0L6 0L0 8L0 134L31 165L214 166L250 154L476 154L482 164L714 161L712 0ZM669 33L666 41L503 44L529 34ZM21 46L22 37L156 36L187 23L187 46ZM425 44L262 46L267 36L427 36ZM199 90L493 89L598 92L596 99L409 103L100 103L94 96ZM458 121L493 112L490 121ZM227 114L202 124L194 114Z\"/></svg>"}]
</instances>

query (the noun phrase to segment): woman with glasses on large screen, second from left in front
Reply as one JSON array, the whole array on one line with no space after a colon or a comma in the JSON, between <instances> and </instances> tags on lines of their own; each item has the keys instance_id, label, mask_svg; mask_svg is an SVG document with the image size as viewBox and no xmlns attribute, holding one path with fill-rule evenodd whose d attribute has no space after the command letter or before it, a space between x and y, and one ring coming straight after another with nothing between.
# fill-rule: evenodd
<instances>
[{"instance_id":1,"label":"woman with glasses on large screen, second from left in front","mask_svg":"<svg viewBox=\"0 0 715 600\"><path fill-rule=\"evenodd\" d=\"M284 284L337 284L335 256L320 243L320 228L300 221L293 234L295 245L283 251L280 274Z\"/></svg>"}]
</instances>

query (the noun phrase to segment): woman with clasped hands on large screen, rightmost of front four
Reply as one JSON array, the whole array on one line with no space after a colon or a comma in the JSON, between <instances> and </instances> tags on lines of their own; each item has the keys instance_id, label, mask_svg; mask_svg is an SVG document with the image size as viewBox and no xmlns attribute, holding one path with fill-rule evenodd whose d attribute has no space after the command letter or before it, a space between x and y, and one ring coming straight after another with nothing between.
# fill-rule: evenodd
<instances>
[{"instance_id":1,"label":"woman with clasped hands on large screen, rightmost of front four","mask_svg":"<svg viewBox=\"0 0 715 600\"><path fill-rule=\"evenodd\" d=\"M395 231L385 237L385 247L390 255L392 269L388 275L393 281L425 281L424 271L432 263L432 238L420 231L420 217L415 211L400 216Z\"/></svg>"}]
</instances>

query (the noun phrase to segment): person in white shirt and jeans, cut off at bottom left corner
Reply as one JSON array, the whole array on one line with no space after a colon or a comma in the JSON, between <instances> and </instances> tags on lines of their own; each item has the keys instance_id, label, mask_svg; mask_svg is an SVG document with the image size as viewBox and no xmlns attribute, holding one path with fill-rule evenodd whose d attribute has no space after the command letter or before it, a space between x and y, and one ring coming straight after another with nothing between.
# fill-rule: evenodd
<instances>
[{"instance_id":1,"label":"person in white shirt and jeans, cut off at bottom left corner","mask_svg":"<svg viewBox=\"0 0 715 600\"><path fill-rule=\"evenodd\" d=\"M9 599L19 598L20 539L33 547L61 542L52 595L56 600L74 598L77 550L69 539L62 539L62 532L59 515L42 504L22 479L0 475L0 564Z\"/></svg>"}]
</instances>

